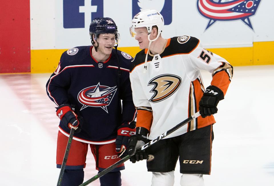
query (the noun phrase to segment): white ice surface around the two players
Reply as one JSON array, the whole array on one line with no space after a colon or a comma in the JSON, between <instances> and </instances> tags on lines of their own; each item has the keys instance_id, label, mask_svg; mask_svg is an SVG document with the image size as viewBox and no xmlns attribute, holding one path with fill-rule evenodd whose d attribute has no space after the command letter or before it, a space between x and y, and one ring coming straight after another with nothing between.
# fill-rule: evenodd
<instances>
[{"instance_id":1,"label":"white ice surface around the two players","mask_svg":"<svg viewBox=\"0 0 274 186\"><path fill-rule=\"evenodd\" d=\"M211 74L202 72L205 86ZM0 75L0 185L56 185L56 140L59 118L45 85L50 74ZM274 185L274 65L234 67L234 75L218 104L213 125L211 175L206 186ZM91 152L84 169L87 180L97 174ZM149 186L146 162L127 161L123 186ZM179 165L175 184L179 186ZM100 185L98 180L90 185Z\"/></svg>"}]
</instances>

